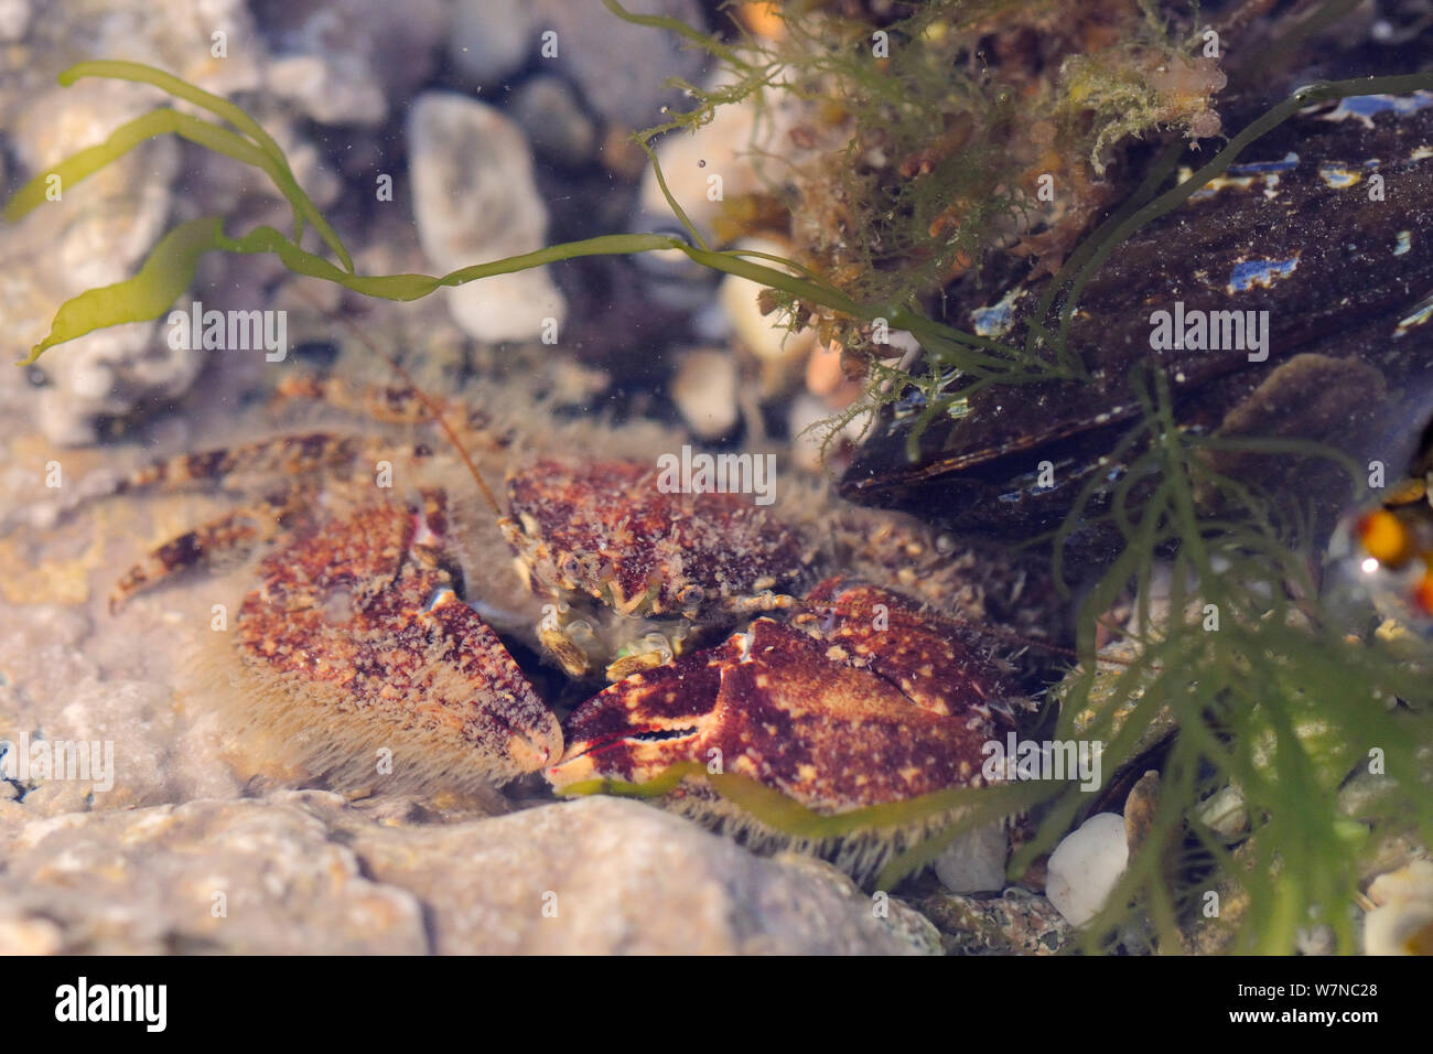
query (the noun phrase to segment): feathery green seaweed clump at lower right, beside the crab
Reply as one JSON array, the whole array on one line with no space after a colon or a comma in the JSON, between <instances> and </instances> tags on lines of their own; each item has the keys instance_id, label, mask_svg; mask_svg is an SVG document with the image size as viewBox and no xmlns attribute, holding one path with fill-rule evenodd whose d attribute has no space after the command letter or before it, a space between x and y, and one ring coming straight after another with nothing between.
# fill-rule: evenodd
<instances>
[{"instance_id":1,"label":"feathery green seaweed clump at lower right, beside the crab","mask_svg":"<svg viewBox=\"0 0 1433 1054\"><path fill-rule=\"evenodd\" d=\"M1323 455L1354 488L1357 466L1313 443L1182 432L1162 374L1142 394L1146 413L1135 433L1152 440L1146 452L1118 483L1088 485L1059 532L1063 541L1089 522L1105 490L1102 518L1125 538L1080 608L1085 658L1059 693L1059 736L1106 743L1111 771L1148 749L1146 730L1161 717L1178 734L1159 766L1144 849L1086 945L1115 941L1136 908L1165 949L1181 946L1181 931L1202 928L1218 931L1211 944L1221 949L1288 954L1304 931L1327 926L1337 948L1353 951L1351 905L1380 849L1403 835L1424 845L1433 837L1433 645L1396 648L1331 612L1308 555L1308 519L1293 508L1280 515L1268 495L1214 470L1209 455ZM1201 515L1197 493L1219 515ZM1169 615L1152 619L1149 587L1162 554ZM1139 587L1138 622L1152 628L1113 675L1101 668L1095 628L1131 582ZM1231 786L1248 815L1247 833L1235 839L1198 813ZM1350 786L1376 797L1376 809L1356 806ZM1013 869L1053 846L1080 813L1080 797L1070 789L1050 809ZM1205 918L1211 905L1219 911Z\"/></svg>"}]
</instances>

